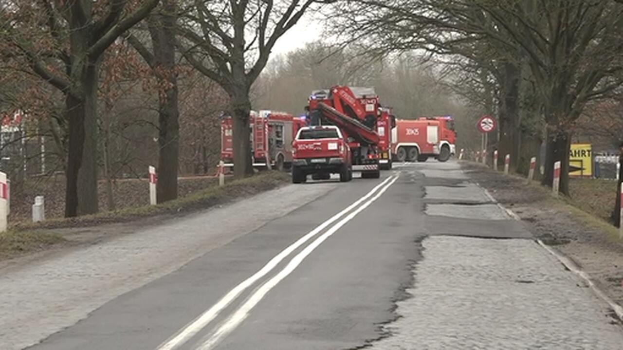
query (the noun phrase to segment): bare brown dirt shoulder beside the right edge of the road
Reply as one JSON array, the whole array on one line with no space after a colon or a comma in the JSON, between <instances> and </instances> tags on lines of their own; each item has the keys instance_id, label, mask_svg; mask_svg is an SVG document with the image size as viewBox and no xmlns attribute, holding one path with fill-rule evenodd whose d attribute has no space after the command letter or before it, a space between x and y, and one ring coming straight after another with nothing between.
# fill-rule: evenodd
<instances>
[{"instance_id":1,"label":"bare brown dirt shoulder beside the right edge of the road","mask_svg":"<svg viewBox=\"0 0 623 350\"><path fill-rule=\"evenodd\" d=\"M472 181L513 210L536 238L571 258L604 293L623 304L623 241L615 227L571 206L568 199L554 198L538 182L528 184L477 163L461 166Z\"/></svg>"}]
</instances>

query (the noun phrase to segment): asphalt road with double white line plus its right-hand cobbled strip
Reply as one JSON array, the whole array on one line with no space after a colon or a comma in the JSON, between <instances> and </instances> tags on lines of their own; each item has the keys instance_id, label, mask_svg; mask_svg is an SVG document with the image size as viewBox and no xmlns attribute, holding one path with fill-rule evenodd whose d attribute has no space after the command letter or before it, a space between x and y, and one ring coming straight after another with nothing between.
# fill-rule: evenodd
<instances>
[{"instance_id":1,"label":"asphalt road with double white line plus its right-hand cobbled strip","mask_svg":"<svg viewBox=\"0 0 623 350\"><path fill-rule=\"evenodd\" d=\"M310 186L328 184L288 191ZM32 349L623 343L601 301L468 183L457 163L401 164L381 179L329 188Z\"/></svg>"}]
</instances>

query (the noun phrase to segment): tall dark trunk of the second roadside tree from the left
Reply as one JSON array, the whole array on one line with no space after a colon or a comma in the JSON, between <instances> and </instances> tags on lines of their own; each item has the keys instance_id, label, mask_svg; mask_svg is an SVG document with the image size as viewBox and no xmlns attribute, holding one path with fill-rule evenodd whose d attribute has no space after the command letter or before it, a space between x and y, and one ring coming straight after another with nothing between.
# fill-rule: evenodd
<instances>
[{"instance_id":1,"label":"tall dark trunk of the second roadside tree from the left","mask_svg":"<svg viewBox=\"0 0 623 350\"><path fill-rule=\"evenodd\" d=\"M178 197L179 109L175 65L175 1L163 1L163 9L150 17L154 70L159 87L158 108L158 203Z\"/></svg>"}]
</instances>

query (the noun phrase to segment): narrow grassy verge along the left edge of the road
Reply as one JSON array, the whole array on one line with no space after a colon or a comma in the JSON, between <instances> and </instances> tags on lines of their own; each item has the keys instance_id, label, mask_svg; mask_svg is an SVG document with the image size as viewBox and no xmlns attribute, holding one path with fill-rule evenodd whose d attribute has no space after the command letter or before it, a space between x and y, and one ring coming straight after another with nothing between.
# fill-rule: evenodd
<instances>
[{"instance_id":1,"label":"narrow grassy verge along the left edge of the road","mask_svg":"<svg viewBox=\"0 0 623 350\"><path fill-rule=\"evenodd\" d=\"M189 196L164 202L156 206L130 207L80 217L45 220L37 224L18 223L14 225L12 229L32 230L85 227L112 222L128 222L158 215L188 213L275 189L289 180L290 176L287 173L269 171L245 179L231 180L231 182L227 182L225 186L222 187L217 185L207 187Z\"/></svg>"}]
</instances>

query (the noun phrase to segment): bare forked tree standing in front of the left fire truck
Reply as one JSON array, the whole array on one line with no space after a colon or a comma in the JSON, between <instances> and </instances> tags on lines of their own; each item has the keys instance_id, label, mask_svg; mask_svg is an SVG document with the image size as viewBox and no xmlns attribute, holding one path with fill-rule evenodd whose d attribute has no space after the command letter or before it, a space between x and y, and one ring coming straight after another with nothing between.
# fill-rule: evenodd
<instances>
[{"instance_id":1,"label":"bare forked tree standing in front of the left fire truck","mask_svg":"<svg viewBox=\"0 0 623 350\"><path fill-rule=\"evenodd\" d=\"M227 92L234 116L234 175L253 173L249 140L250 88L277 40L312 5L331 0L195 0L181 9L184 57ZM315 7L315 6L314 6Z\"/></svg>"}]
</instances>

